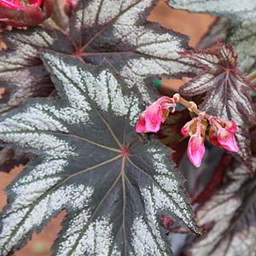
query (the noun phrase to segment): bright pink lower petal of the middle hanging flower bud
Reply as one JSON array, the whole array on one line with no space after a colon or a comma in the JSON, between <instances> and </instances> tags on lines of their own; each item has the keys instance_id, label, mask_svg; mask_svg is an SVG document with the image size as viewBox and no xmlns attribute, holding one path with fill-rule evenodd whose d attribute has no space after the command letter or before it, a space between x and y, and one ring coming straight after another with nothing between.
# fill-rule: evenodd
<instances>
[{"instance_id":1,"label":"bright pink lower petal of the middle hanging flower bud","mask_svg":"<svg viewBox=\"0 0 256 256\"><path fill-rule=\"evenodd\" d=\"M187 153L189 160L195 167L201 166L201 160L205 154L204 139L196 135L191 136Z\"/></svg>"}]
</instances>

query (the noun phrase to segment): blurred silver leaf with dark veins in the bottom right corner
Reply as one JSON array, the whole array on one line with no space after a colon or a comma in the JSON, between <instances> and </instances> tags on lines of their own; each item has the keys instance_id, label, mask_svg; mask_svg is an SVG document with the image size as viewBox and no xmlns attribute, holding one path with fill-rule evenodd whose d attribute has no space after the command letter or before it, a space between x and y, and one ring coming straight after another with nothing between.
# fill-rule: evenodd
<instances>
[{"instance_id":1,"label":"blurred silver leaf with dark veins in the bottom right corner","mask_svg":"<svg viewBox=\"0 0 256 256\"><path fill-rule=\"evenodd\" d=\"M255 188L256 179L249 177L245 166L226 174L226 183L197 212L199 224L205 231L188 247L189 255L255 255Z\"/></svg>"}]
</instances>

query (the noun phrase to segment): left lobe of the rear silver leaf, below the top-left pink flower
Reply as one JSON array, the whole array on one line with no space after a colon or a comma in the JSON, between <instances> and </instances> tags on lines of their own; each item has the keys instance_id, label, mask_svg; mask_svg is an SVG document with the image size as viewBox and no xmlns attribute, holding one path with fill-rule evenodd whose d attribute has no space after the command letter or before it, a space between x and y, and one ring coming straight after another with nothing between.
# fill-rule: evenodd
<instances>
[{"instance_id":1,"label":"left lobe of the rear silver leaf, below the top-left pink flower","mask_svg":"<svg viewBox=\"0 0 256 256\"><path fill-rule=\"evenodd\" d=\"M42 27L3 33L7 51L0 52L0 113L16 108L27 98L48 96L53 90L49 74L40 60L41 49L72 53L73 46L64 34Z\"/></svg>"}]
</instances>

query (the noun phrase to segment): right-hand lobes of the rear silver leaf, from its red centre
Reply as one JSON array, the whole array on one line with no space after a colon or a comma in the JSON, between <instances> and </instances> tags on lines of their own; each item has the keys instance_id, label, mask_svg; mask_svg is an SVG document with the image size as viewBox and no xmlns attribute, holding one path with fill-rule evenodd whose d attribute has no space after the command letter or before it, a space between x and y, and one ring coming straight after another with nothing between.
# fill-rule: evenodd
<instances>
[{"instance_id":1,"label":"right-hand lobes of the rear silver leaf, from its red centre","mask_svg":"<svg viewBox=\"0 0 256 256\"><path fill-rule=\"evenodd\" d=\"M177 51L188 48L188 38L147 21L156 2L81 0L70 24L77 55L93 64L106 58L146 102L154 98L152 79L195 70L177 60Z\"/></svg>"}]
</instances>

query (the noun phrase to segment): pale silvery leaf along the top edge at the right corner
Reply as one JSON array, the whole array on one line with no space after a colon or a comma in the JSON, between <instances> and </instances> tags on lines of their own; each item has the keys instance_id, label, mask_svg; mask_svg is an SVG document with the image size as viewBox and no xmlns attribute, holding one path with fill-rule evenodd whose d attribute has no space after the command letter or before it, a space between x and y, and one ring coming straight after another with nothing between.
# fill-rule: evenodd
<instances>
[{"instance_id":1,"label":"pale silvery leaf along the top edge at the right corner","mask_svg":"<svg viewBox=\"0 0 256 256\"><path fill-rule=\"evenodd\" d=\"M175 9L211 15L226 15L232 20L255 20L256 2L251 0L168 0Z\"/></svg>"}]
</instances>

